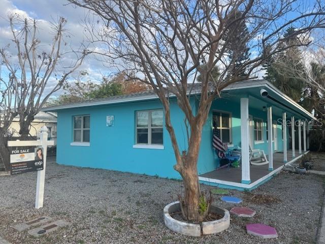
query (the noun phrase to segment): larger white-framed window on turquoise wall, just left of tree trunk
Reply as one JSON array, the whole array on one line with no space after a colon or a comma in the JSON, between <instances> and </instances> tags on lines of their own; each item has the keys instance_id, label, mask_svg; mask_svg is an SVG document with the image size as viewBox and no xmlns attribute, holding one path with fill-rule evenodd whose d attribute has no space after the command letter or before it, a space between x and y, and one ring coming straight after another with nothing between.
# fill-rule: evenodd
<instances>
[{"instance_id":1,"label":"larger white-framed window on turquoise wall, just left of tree trunk","mask_svg":"<svg viewBox=\"0 0 325 244\"><path fill-rule=\"evenodd\" d=\"M137 144L163 144L163 110L137 111Z\"/></svg>"}]
</instances>

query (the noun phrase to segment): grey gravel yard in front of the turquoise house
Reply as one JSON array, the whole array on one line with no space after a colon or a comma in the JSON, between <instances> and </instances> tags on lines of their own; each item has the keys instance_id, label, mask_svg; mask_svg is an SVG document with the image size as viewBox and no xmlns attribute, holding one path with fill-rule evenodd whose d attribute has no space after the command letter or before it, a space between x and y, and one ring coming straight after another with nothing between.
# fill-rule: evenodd
<instances>
[{"instance_id":1,"label":"grey gravel yard in front of the turquoise house","mask_svg":"<svg viewBox=\"0 0 325 244\"><path fill-rule=\"evenodd\" d=\"M325 156L325 155L324 155ZM36 172L1 176L0 236L11 243L314 243L320 218L324 178L281 172L252 192L230 191L240 206L256 210L252 219L232 216L219 234L187 237L167 229L163 208L181 191L181 182L146 175L77 168L49 162L45 199L35 209ZM202 189L207 189L202 185ZM261 197L259 194L264 194ZM215 203L226 204L214 195ZM70 226L31 237L13 229L41 216ZM279 237L261 239L245 231L247 223L275 227Z\"/></svg>"}]
</instances>

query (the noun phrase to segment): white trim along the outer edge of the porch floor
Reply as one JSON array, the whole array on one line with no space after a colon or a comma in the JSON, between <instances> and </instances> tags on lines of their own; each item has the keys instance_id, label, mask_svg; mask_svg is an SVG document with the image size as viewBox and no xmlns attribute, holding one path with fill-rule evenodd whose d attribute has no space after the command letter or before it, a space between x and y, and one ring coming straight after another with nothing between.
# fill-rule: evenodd
<instances>
[{"instance_id":1,"label":"white trim along the outer edge of the porch floor","mask_svg":"<svg viewBox=\"0 0 325 244\"><path fill-rule=\"evenodd\" d=\"M309 151L306 151L304 154L307 154L307 153L309 153ZM288 164L291 164L291 163L296 162L304 154L299 155L297 158L294 158L293 160L291 160L291 161L287 162L286 164L280 166L279 168L271 171L267 175L263 176L262 178L257 179L256 181L252 182L251 184L242 184L242 183L238 183L238 182L232 182L232 181L226 181L226 180L219 180L219 179L207 178L207 177L202 177L202 176L199 176L199 180L206 181L206 182L210 182L210 183L215 183L215 184L228 185L228 186L232 186L232 187L239 187L239 188L244 188L244 189L251 189L251 188L255 187L256 185L258 185L259 183L261 183L262 181L268 179L272 175L277 174L285 165L288 165Z\"/></svg>"}]
</instances>

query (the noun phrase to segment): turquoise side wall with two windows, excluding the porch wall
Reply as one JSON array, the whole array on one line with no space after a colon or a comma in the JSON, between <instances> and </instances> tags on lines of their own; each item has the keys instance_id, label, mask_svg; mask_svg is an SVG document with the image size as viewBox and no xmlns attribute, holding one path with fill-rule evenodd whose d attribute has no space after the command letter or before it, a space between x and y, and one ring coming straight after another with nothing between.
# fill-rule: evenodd
<instances>
[{"instance_id":1,"label":"turquoise side wall with two windows, excluding the porch wall","mask_svg":"<svg viewBox=\"0 0 325 244\"><path fill-rule=\"evenodd\" d=\"M135 112L161 107L159 101L149 101L58 111L57 163L180 178L178 172L173 169L175 156L165 128L165 149L133 148ZM73 116L86 114L90 115L90 146L72 146L70 143L73 141ZM113 127L106 126L107 115L114 115ZM171 102L171 117L179 147L186 149L184 114L176 101Z\"/></svg>"}]
</instances>

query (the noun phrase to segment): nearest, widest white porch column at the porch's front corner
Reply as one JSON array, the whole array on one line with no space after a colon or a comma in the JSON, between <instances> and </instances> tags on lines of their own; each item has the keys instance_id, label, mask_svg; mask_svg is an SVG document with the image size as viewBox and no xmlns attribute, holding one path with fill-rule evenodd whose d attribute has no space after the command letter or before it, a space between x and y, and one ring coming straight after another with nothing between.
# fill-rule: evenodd
<instances>
[{"instance_id":1,"label":"nearest, widest white porch column at the porch's front corner","mask_svg":"<svg viewBox=\"0 0 325 244\"><path fill-rule=\"evenodd\" d=\"M240 133L242 145L242 183L250 184L248 98L240 99Z\"/></svg>"}]
</instances>

